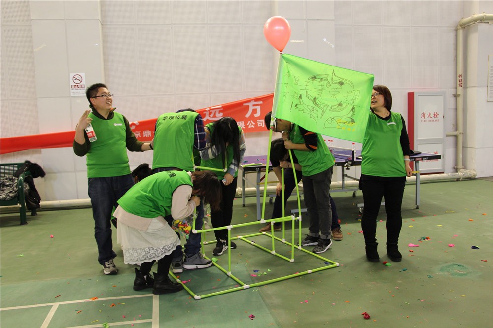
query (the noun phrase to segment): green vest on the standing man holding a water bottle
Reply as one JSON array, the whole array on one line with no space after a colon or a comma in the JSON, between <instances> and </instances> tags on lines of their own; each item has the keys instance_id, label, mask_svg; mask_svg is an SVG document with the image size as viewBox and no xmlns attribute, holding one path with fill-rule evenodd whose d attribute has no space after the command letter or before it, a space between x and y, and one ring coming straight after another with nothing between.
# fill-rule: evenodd
<instances>
[{"instance_id":1,"label":"green vest on the standing man holding a water bottle","mask_svg":"<svg viewBox=\"0 0 493 328\"><path fill-rule=\"evenodd\" d=\"M113 118L103 120L93 113L91 125L98 140L91 142L86 155L87 177L104 178L130 174L126 127L123 115L114 112Z\"/></svg>"}]
</instances>

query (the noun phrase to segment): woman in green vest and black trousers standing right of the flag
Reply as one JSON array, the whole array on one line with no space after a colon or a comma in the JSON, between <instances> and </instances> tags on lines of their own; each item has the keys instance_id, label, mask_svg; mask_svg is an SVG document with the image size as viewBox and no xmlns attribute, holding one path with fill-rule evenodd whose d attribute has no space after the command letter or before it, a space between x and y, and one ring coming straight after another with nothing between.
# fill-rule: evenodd
<instances>
[{"instance_id":1,"label":"woman in green vest and black trousers standing right of the flag","mask_svg":"<svg viewBox=\"0 0 493 328\"><path fill-rule=\"evenodd\" d=\"M406 176L412 175L410 148L404 118L392 113L392 95L384 85L375 85L371 95L361 156L359 188L363 191L364 210L361 228L366 244L366 258L379 262L377 252L377 215L382 197L387 213L387 255L399 262L402 255L397 243L402 227L401 205Z\"/></svg>"}]
</instances>

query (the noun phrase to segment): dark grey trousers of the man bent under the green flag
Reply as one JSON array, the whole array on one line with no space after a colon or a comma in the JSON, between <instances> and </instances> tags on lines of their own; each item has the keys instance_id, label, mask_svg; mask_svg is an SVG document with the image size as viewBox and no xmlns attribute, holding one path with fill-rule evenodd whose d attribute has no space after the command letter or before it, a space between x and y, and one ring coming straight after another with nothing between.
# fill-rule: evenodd
<instances>
[{"instance_id":1,"label":"dark grey trousers of the man bent under the green flag","mask_svg":"<svg viewBox=\"0 0 493 328\"><path fill-rule=\"evenodd\" d=\"M332 233L332 210L329 189L332 181L332 167L314 175L303 175L303 196L310 220L311 236L320 234L322 239L330 239Z\"/></svg>"}]
</instances>

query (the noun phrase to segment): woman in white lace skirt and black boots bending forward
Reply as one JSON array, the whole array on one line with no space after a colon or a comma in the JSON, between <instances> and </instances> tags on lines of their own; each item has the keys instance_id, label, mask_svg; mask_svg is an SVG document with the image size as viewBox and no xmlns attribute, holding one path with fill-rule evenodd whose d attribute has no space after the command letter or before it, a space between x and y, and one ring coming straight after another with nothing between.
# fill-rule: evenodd
<instances>
[{"instance_id":1,"label":"woman in white lace skirt and black boots bending forward","mask_svg":"<svg viewBox=\"0 0 493 328\"><path fill-rule=\"evenodd\" d=\"M221 182L211 171L165 171L146 177L118 200L114 216L124 262L141 266L135 268L134 290L152 287L153 294L165 294L183 288L168 277L171 253L180 240L165 218L186 218L201 201L217 210L221 195ZM150 272L156 261L153 279Z\"/></svg>"}]
</instances>

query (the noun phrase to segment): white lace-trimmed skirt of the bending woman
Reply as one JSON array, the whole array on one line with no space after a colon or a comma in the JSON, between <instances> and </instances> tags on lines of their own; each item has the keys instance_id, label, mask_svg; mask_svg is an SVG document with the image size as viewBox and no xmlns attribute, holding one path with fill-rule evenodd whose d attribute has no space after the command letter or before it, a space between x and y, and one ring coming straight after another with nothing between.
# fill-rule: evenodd
<instances>
[{"instance_id":1,"label":"white lace-trimmed skirt of the bending woman","mask_svg":"<svg viewBox=\"0 0 493 328\"><path fill-rule=\"evenodd\" d=\"M171 254L180 244L176 232L165 222L148 219L151 223L147 230L131 228L118 221L116 235L123 250L125 264L141 265L144 262L160 260Z\"/></svg>"}]
</instances>

